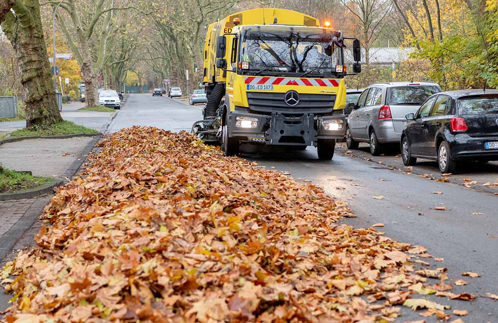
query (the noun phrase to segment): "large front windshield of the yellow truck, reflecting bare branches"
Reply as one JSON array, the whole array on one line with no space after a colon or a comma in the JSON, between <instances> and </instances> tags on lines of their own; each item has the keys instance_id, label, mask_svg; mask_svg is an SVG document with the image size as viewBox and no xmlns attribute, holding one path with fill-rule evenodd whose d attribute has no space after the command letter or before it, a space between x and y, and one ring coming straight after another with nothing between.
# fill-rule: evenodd
<instances>
[{"instance_id":1,"label":"large front windshield of the yellow truck, reflecting bare branches","mask_svg":"<svg viewBox=\"0 0 498 323\"><path fill-rule=\"evenodd\" d=\"M335 74L342 53L331 42L332 32L322 28L251 27L243 33L239 60L249 62L249 70L261 74Z\"/></svg>"}]
</instances>

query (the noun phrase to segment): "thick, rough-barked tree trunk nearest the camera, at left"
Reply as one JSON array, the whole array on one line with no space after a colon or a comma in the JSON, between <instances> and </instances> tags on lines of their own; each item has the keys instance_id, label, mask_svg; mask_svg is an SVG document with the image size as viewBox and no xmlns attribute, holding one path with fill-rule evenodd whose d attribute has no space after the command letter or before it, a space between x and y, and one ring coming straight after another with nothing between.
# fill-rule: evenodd
<instances>
[{"instance_id":1,"label":"thick, rough-barked tree trunk nearest the camera, at left","mask_svg":"<svg viewBox=\"0 0 498 323\"><path fill-rule=\"evenodd\" d=\"M38 0L17 0L2 28L15 49L26 99L26 127L62 121L53 88Z\"/></svg>"}]
</instances>

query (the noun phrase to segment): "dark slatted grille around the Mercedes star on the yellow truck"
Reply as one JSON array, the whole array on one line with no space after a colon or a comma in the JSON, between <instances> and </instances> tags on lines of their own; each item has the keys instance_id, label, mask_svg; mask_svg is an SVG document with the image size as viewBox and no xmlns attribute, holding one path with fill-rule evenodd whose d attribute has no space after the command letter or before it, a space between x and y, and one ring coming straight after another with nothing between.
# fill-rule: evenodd
<instances>
[{"instance_id":1,"label":"dark slatted grille around the Mercedes star on the yellow truck","mask_svg":"<svg viewBox=\"0 0 498 323\"><path fill-rule=\"evenodd\" d=\"M300 94L299 103L289 107L284 102L285 93L247 92L249 109L260 112L327 113L332 112L335 95Z\"/></svg>"}]
</instances>

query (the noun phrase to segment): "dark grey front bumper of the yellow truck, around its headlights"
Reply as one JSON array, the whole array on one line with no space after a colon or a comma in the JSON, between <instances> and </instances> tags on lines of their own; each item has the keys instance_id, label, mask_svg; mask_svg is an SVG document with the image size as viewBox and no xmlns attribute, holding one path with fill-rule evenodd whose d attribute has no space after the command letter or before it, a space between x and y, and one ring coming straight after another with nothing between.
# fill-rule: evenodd
<instances>
[{"instance_id":1,"label":"dark grey front bumper of the yellow truck, around its headlights","mask_svg":"<svg viewBox=\"0 0 498 323\"><path fill-rule=\"evenodd\" d=\"M237 117L257 119L255 128L237 127ZM338 130L327 130L328 122L340 124ZM236 137L241 142L282 145L282 146L317 146L319 139L343 139L345 118L343 113L332 116L303 114L289 116L273 112L271 115L253 114L233 111L229 116L228 136Z\"/></svg>"}]
</instances>

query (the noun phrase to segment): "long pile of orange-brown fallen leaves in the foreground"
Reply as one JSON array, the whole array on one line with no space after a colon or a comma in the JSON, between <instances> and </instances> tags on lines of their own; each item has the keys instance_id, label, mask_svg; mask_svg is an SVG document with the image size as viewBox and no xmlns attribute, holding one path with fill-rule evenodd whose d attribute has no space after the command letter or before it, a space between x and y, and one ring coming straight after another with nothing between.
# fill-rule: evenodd
<instances>
[{"instance_id":1,"label":"long pile of orange-brown fallen leaves in the foreground","mask_svg":"<svg viewBox=\"0 0 498 323\"><path fill-rule=\"evenodd\" d=\"M4 267L6 322L390 322L403 304L449 318L414 294L473 298L418 269L425 248L338 225L345 203L187 133L99 146Z\"/></svg>"}]
</instances>

